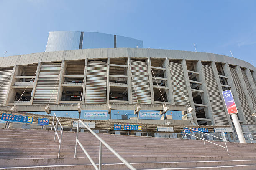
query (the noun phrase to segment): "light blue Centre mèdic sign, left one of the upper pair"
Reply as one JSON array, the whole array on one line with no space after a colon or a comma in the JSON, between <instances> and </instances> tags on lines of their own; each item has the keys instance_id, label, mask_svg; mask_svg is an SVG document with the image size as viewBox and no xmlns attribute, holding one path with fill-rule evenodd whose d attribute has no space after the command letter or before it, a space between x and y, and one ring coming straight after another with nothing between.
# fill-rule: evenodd
<instances>
[{"instance_id":1,"label":"light blue Centre m\u00e8dic sign, left one of the upper pair","mask_svg":"<svg viewBox=\"0 0 256 170\"><path fill-rule=\"evenodd\" d=\"M108 110L82 110L84 119L88 120L108 120Z\"/></svg>"}]
</instances>

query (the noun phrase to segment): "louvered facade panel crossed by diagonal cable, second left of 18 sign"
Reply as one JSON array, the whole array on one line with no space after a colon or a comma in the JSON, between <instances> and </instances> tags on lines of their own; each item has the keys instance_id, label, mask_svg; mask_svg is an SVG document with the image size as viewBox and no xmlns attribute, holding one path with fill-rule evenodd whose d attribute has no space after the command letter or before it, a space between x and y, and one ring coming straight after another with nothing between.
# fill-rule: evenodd
<instances>
[{"instance_id":1,"label":"louvered facade panel crossed by diagonal cable, second left of 18 sign","mask_svg":"<svg viewBox=\"0 0 256 170\"><path fill-rule=\"evenodd\" d=\"M172 72L177 80L177 81L175 80L175 78L171 72L174 103L175 103L175 105L188 105L187 102L189 102L189 95L187 92L187 85L186 85L182 65L179 63L169 62L169 67L172 70ZM182 91L180 90L179 86L181 87ZM184 95L182 92L184 93ZM190 102L189 102L189 105L190 105ZM188 118L188 120L193 121L192 113L187 114L187 118Z\"/></svg>"}]
</instances>

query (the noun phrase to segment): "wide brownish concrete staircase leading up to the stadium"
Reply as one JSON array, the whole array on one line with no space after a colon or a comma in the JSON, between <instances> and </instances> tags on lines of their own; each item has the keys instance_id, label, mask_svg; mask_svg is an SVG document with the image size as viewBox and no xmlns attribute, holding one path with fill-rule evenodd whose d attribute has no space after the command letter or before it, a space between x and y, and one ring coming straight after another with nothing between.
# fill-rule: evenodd
<instances>
[{"instance_id":1,"label":"wide brownish concrete staircase leading up to the stadium","mask_svg":"<svg viewBox=\"0 0 256 170\"><path fill-rule=\"evenodd\" d=\"M256 144L228 142L228 156L202 140L98 135L138 170L256 170ZM80 147L74 158L75 138L75 132L63 132L58 159L53 131L0 129L0 170L94 170ZM99 141L91 133L79 133L79 140L98 163ZM102 170L128 170L104 145L102 155Z\"/></svg>"}]
</instances>

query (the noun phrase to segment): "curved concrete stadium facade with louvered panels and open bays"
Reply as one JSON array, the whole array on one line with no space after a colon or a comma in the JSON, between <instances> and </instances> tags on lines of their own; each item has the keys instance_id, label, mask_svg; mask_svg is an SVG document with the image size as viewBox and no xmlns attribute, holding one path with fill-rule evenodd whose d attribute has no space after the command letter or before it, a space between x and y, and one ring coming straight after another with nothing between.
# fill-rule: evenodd
<instances>
[{"instance_id":1,"label":"curved concrete stadium facade with louvered panels and open bays","mask_svg":"<svg viewBox=\"0 0 256 170\"><path fill-rule=\"evenodd\" d=\"M15 105L46 114L48 106L51 115L74 118L80 105L83 119L232 126L221 94L230 89L240 123L256 123L256 68L225 55L141 48L42 52L0 58L0 79L6 110ZM160 115L164 103L169 114ZM189 105L195 110L185 114ZM243 130L256 131L250 127Z\"/></svg>"}]
</instances>

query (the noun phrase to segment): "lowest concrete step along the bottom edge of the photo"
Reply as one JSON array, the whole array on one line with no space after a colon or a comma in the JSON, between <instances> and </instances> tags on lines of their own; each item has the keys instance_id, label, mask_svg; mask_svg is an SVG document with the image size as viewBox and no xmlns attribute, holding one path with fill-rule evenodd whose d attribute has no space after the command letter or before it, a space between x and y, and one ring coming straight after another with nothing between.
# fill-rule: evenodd
<instances>
[{"instance_id":1,"label":"lowest concrete step along the bottom edge of the photo","mask_svg":"<svg viewBox=\"0 0 256 170\"><path fill-rule=\"evenodd\" d=\"M235 161L188 161L188 162L154 162L154 163L131 163L131 165L138 169L138 170L145 170L150 168L154 169L163 169L163 168L179 168L182 167L184 169L186 168L210 168L210 167L215 167L218 168L219 170L220 167L229 167L233 168L235 166L244 169L250 168L256 168L255 160L235 160ZM246 165L246 166L245 166ZM251 166L249 166L251 165ZM9 168L0 168L0 169L25 169L25 170L70 170L70 169L75 169L75 170L94 170L94 167L90 164L83 164L83 165L46 165L46 166L30 166L30 167L9 167ZM109 164L102 164L102 169L104 170L128 170L126 165L123 163L109 163ZM179 168L180 169L180 168ZM232 169L232 170L233 170ZM241 169L240 169L241 170Z\"/></svg>"}]
</instances>

